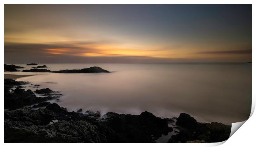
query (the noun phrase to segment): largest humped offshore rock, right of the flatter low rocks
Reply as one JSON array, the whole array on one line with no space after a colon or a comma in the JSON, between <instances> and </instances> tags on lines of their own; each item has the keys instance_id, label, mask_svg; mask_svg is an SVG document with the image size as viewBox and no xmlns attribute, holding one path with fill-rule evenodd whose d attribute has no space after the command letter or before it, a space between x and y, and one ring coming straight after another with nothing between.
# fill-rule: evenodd
<instances>
[{"instance_id":1,"label":"largest humped offshore rock, right of the flatter low rocks","mask_svg":"<svg viewBox=\"0 0 256 147\"><path fill-rule=\"evenodd\" d=\"M109 71L102 69L100 67L90 67L90 68L85 68L85 69L66 69L66 70L61 70L61 71L52 71L55 73L109 73Z\"/></svg>"}]
</instances>

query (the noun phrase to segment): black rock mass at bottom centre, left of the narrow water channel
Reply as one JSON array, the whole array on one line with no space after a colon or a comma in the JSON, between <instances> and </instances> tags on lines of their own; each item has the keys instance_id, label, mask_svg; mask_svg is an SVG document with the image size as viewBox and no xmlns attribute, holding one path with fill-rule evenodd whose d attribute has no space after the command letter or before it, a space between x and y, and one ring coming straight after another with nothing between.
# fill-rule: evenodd
<instances>
[{"instance_id":1,"label":"black rock mass at bottom centre, left of the narrow water channel","mask_svg":"<svg viewBox=\"0 0 256 147\"><path fill-rule=\"evenodd\" d=\"M166 120L147 111L140 115L124 115L109 112L103 116L103 124L120 134L122 142L154 142L156 138L173 131ZM152 135L154 138L152 138Z\"/></svg>"}]
</instances>

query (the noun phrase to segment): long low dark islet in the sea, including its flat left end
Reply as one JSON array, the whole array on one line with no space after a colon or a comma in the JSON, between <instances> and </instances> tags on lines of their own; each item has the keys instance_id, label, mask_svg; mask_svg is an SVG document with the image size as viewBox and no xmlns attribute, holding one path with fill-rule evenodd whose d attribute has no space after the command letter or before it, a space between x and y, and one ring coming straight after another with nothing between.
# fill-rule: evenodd
<instances>
[{"instance_id":1,"label":"long low dark islet in the sea, including its flat left end","mask_svg":"<svg viewBox=\"0 0 256 147\"><path fill-rule=\"evenodd\" d=\"M90 67L85 69L66 69L60 71L50 71L48 69L27 69L23 72L52 72L52 73L109 73L109 71L100 67Z\"/></svg>"}]
</instances>

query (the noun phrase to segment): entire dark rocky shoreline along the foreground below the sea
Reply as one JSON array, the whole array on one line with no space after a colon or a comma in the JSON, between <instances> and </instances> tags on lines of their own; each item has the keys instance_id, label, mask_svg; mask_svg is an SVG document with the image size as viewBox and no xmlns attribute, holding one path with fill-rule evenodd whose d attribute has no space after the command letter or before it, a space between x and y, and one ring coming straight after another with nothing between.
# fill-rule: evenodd
<instances>
[{"instance_id":1,"label":"entire dark rocky shoreline along the foreground below the sea","mask_svg":"<svg viewBox=\"0 0 256 147\"><path fill-rule=\"evenodd\" d=\"M185 113L160 118L147 111L140 115L69 112L47 102L61 94L48 88L25 91L24 84L5 79L5 142L159 142L163 136L169 138L165 142L220 142L230 136L231 126L199 123Z\"/></svg>"}]
</instances>

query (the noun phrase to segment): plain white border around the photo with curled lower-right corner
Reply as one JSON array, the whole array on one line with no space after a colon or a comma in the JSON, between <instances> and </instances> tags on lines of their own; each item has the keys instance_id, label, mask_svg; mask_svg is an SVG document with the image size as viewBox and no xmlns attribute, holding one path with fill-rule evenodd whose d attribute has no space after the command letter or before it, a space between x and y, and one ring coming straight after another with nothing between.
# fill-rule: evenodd
<instances>
[{"instance_id":1,"label":"plain white border around the photo with curled lower-right corner","mask_svg":"<svg viewBox=\"0 0 256 147\"><path fill-rule=\"evenodd\" d=\"M4 71L4 5L3 4L253 4L252 5L252 9L253 9L253 14L252 16L256 16L255 15L255 0L2 0L1 1L2 5L0 6L1 8L1 13L0 13L0 19L2 21L1 23L1 69L2 72ZM255 18L252 17L252 48L254 48L254 44L255 44ZM255 57L255 49L252 50L252 62L254 63L254 57ZM251 115L254 112L254 108L255 108L255 67L256 64L252 64L252 112ZM1 103L1 108L4 109L4 103L3 103L3 94L4 94L4 88L3 88L3 83L4 83L4 75L2 74L2 78L0 79L2 82L2 88L0 88L1 90L1 94L2 94L2 103ZM4 112L2 111L1 114L1 118L4 118ZM254 132L256 131L256 118L255 115L252 115L251 118L249 119L249 121L245 122L243 126L241 126L241 128L234 133L233 136L231 136L225 143L224 142L219 142L219 143L206 143L206 144L175 144L175 143L161 143L161 144L152 144L152 143L147 143L147 144L143 144L143 146L148 146L148 147L152 147L152 146L194 146L194 147L198 147L198 146L216 146L216 145L220 145L222 143L224 143L222 146L224 147L229 147L229 146L242 146L242 145L255 145L254 142ZM1 125L1 140L3 145L5 146L21 146L21 147L27 147L27 146L39 146L39 147L43 147L45 146L45 144L34 144L34 143L26 143L26 144L13 144L13 143L5 143L4 144L4 121L2 120L2 125ZM52 144L52 143L48 143L47 145L53 146L56 144ZM62 144L58 144L64 147L69 147L71 144L69 143L62 143ZM141 146L142 144L138 144L138 143L133 143L133 144L126 144L126 143L108 143L108 144L101 144L101 143L97 143L97 144L76 144L77 146L124 146L124 147L128 147L130 145L135 145L135 146Z\"/></svg>"}]
</instances>

